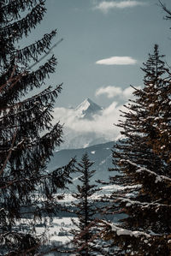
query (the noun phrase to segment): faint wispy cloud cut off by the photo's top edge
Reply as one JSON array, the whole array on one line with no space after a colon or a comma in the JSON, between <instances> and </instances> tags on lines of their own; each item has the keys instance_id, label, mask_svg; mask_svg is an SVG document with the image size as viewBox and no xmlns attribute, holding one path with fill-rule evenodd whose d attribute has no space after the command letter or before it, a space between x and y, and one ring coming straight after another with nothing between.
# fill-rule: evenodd
<instances>
[{"instance_id":1,"label":"faint wispy cloud cut off by the photo's top edge","mask_svg":"<svg viewBox=\"0 0 171 256\"><path fill-rule=\"evenodd\" d=\"M94 2L96 3L96 2ZM96 3L94 9L99 9L103 13L108 13L110 9L125 9L125 8L133 8L136 6L142 6L145 3L139 1L103 1L101 3Z\"/></svg>"}]
</instances>

